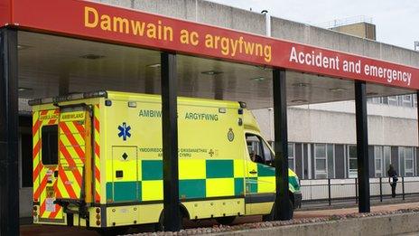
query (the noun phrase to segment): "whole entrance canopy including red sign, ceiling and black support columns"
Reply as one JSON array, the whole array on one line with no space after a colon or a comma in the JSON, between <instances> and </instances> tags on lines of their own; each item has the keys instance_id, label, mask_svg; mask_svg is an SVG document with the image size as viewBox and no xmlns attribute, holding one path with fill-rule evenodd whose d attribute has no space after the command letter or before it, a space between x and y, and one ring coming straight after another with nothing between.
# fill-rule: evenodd
<instances>
[{"instance_id":1,"label":"whole entrance canopy including red sign, ceiling and black support columns","mask_svg":"<svg viewBox=\"0 0 419 236\"><path fill-rule=\"evenodd\" d=\"M3 0L0 25L0 214L10 216L0 233L7 235L17 234L18 87L26 99L162 93L169 231L180 222L178 95L241 100L250 109L274 105L275 218L289 220L286 106L356 99L358 203L369 212L366 98L419 90L418 68L89 1Z\"/></svg>"}]
</instances>

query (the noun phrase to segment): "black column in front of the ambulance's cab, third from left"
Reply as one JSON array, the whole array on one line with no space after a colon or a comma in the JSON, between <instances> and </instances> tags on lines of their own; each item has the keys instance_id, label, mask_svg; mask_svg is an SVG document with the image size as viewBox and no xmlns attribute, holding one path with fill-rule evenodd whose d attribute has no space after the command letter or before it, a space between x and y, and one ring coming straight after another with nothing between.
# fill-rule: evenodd
<instances>
[{"instance_id":1,"label":"black column in front of the ambulance's cab, third from left","mask_svg":"<svg viewBox=\"0 0 419 236\"><path fill-rule=\"evenodd\" d=\"M275 123L275 220L290 220L293 208L288 194L288 128L286 121L286 71L275 69L274 123Z\"/></svg>"}]
</instances>

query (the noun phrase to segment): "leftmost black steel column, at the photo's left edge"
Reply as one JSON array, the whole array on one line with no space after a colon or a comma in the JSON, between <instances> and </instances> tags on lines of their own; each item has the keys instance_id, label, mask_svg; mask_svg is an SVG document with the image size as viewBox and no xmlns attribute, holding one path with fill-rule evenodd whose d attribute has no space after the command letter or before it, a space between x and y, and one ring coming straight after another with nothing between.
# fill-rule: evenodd
<instances>
[{"instance_id":1,"label":"leftmost black steel column, at the photo's left edge","mask_svg":"<svg viewBox=\"0 0 419 236\"><path fill-rule=\"evenodd\" d=\"M0 235L19 235L17 31L0 29Z\"/></svg>"}]
</instances>

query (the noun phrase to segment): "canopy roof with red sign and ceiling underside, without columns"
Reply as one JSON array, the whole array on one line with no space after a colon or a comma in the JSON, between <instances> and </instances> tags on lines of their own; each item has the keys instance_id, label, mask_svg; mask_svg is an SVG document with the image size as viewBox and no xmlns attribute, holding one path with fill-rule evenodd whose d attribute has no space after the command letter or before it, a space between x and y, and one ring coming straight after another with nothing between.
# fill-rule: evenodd
<instances>
[{"instance_id":1,"label":"canopy roof with red sign and ceiling underside, without columns","mask_svg":"<svg viewBox=\"0 0 419 236\"><path fill-rule=\"evenodd\" d=\"M417 68L110 5L15 0L0 12L1 24L21 29L22 98L159 93L161 51L182 54L180 95L243 100L250 108L271 106L272 68L287 70L289 105L354 99L353 80L369 82L369 97L419 89Z\"/></svg>"}]
</instances>

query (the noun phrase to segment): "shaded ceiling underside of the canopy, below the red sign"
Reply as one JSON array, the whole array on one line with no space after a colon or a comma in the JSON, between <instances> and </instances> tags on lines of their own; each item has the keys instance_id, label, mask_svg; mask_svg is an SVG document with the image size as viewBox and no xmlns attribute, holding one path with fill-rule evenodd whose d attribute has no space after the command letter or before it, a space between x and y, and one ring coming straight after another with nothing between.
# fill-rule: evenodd
<instances>
[{"instance_id":1,"label":"shaded ceiling underside of the canopy, below the red sign","mask_svg":"<svg viewBox=\"0 0 419 236\"><path fill-rule=\"evenodd\" d=\"M25 31L19 32L18 43L21 98L92 90L161 93L158 51ZM289 105L354 98L352 80L287 73ZM272 107L268 67L180 55L178 78L181 96L241 100L250 109ZM370 97L412 92L376 83L367 88Z\"/></svg>"}]
</instances>

